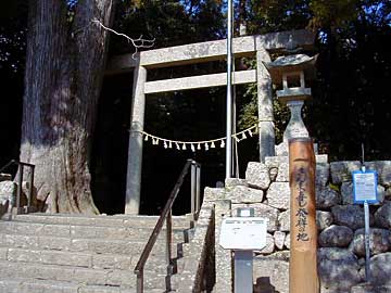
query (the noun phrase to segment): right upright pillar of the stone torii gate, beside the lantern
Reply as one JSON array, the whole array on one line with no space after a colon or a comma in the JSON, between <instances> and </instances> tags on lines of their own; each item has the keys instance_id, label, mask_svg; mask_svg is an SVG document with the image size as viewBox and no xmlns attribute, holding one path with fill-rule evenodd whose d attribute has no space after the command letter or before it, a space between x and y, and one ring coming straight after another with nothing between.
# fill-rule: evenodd
<instances>
[{"instance_id":1,"label":"right upright pillar of the stone torii gate, beside the lantern","mask_svg":"<svg viewBox=\"0 0 391 293\"><path fill-rule=\"evenodd\" d=\"M265 162L265 156L275 155L275 126L273 114L272 78L263 64L270 62L270 56L265 49L256 51L256 81L258 103L260 129L260 162Z\"/></svg>"}]
</instances>

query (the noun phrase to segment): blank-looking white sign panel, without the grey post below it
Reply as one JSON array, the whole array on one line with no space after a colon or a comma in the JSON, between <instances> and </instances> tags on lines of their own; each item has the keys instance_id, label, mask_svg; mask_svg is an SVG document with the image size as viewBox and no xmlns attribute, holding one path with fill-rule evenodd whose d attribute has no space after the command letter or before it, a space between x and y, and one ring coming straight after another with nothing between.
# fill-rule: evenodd
<instances>
[{"instance_id":1,"label":"blank-looking white sign panel, without the grey post below it","mask_svg":"<svg viewBox=\"0 0 391 293\"><path fill-rule=\"evenodd\" d=\"M262 250L266 245L266 218L226 218L222 224L219 244L225 250Z\"/></svg>"}]
</instances>

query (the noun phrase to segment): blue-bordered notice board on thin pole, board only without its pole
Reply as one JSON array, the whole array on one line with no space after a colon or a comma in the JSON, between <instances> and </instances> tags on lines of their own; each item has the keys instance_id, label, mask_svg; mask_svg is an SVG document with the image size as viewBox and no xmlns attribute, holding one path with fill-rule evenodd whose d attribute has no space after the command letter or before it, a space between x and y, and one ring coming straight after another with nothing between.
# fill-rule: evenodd
<instances>
[{"instance_id":1,"label":"blue-bordered notice board on thin pole, board only without its pole","mask_svg":"<svg viewBox=\"0 0 391 293\"><path fill-rule=\"evenodd\" d=\"M354 203L377 203L376 170L355 170L352 176Z\"/></svg>"}]
</instances>

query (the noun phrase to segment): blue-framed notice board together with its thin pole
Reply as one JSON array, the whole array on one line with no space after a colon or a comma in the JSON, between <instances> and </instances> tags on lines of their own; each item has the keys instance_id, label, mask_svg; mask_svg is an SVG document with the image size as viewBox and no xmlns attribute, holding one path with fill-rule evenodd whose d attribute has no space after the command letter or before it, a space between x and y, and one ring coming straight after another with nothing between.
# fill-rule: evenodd
<instances>
[{"instance_id":1,"label":"blue-framed notice board together with its thin pole","mask_svg":"<svg viewBox=\"0 0 391 293\"><path fill-rule=\"evenodd\" d=\"M365 218L365 279L370 281L370 247L369 247L369 204L378 203L377 199L377 173L366 170L363 164L361 170L352 173L353 195L355 204L364 204Z\"/></svg>"}]
</instances>

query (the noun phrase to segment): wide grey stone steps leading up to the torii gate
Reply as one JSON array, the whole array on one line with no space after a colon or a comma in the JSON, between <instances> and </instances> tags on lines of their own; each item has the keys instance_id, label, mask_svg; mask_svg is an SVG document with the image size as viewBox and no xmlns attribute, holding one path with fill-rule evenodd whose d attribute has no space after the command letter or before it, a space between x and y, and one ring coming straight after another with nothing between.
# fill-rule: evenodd
<instances>
[{"instance_id":1,"label":"wide grey stone steps leading up to the torii gate","mask_svg":"<svg viewBox=\"0 0 391 293\"><path fill-rule=\"evenodd\" d=\"M29 214L0 220L1 293L130 293L156 216ZM173 217L173 257L190 221ZM144 268L144 292L165 290L165 230ZM175 284L174 284L175 286Z\"/></svg>"}]
</instances>

